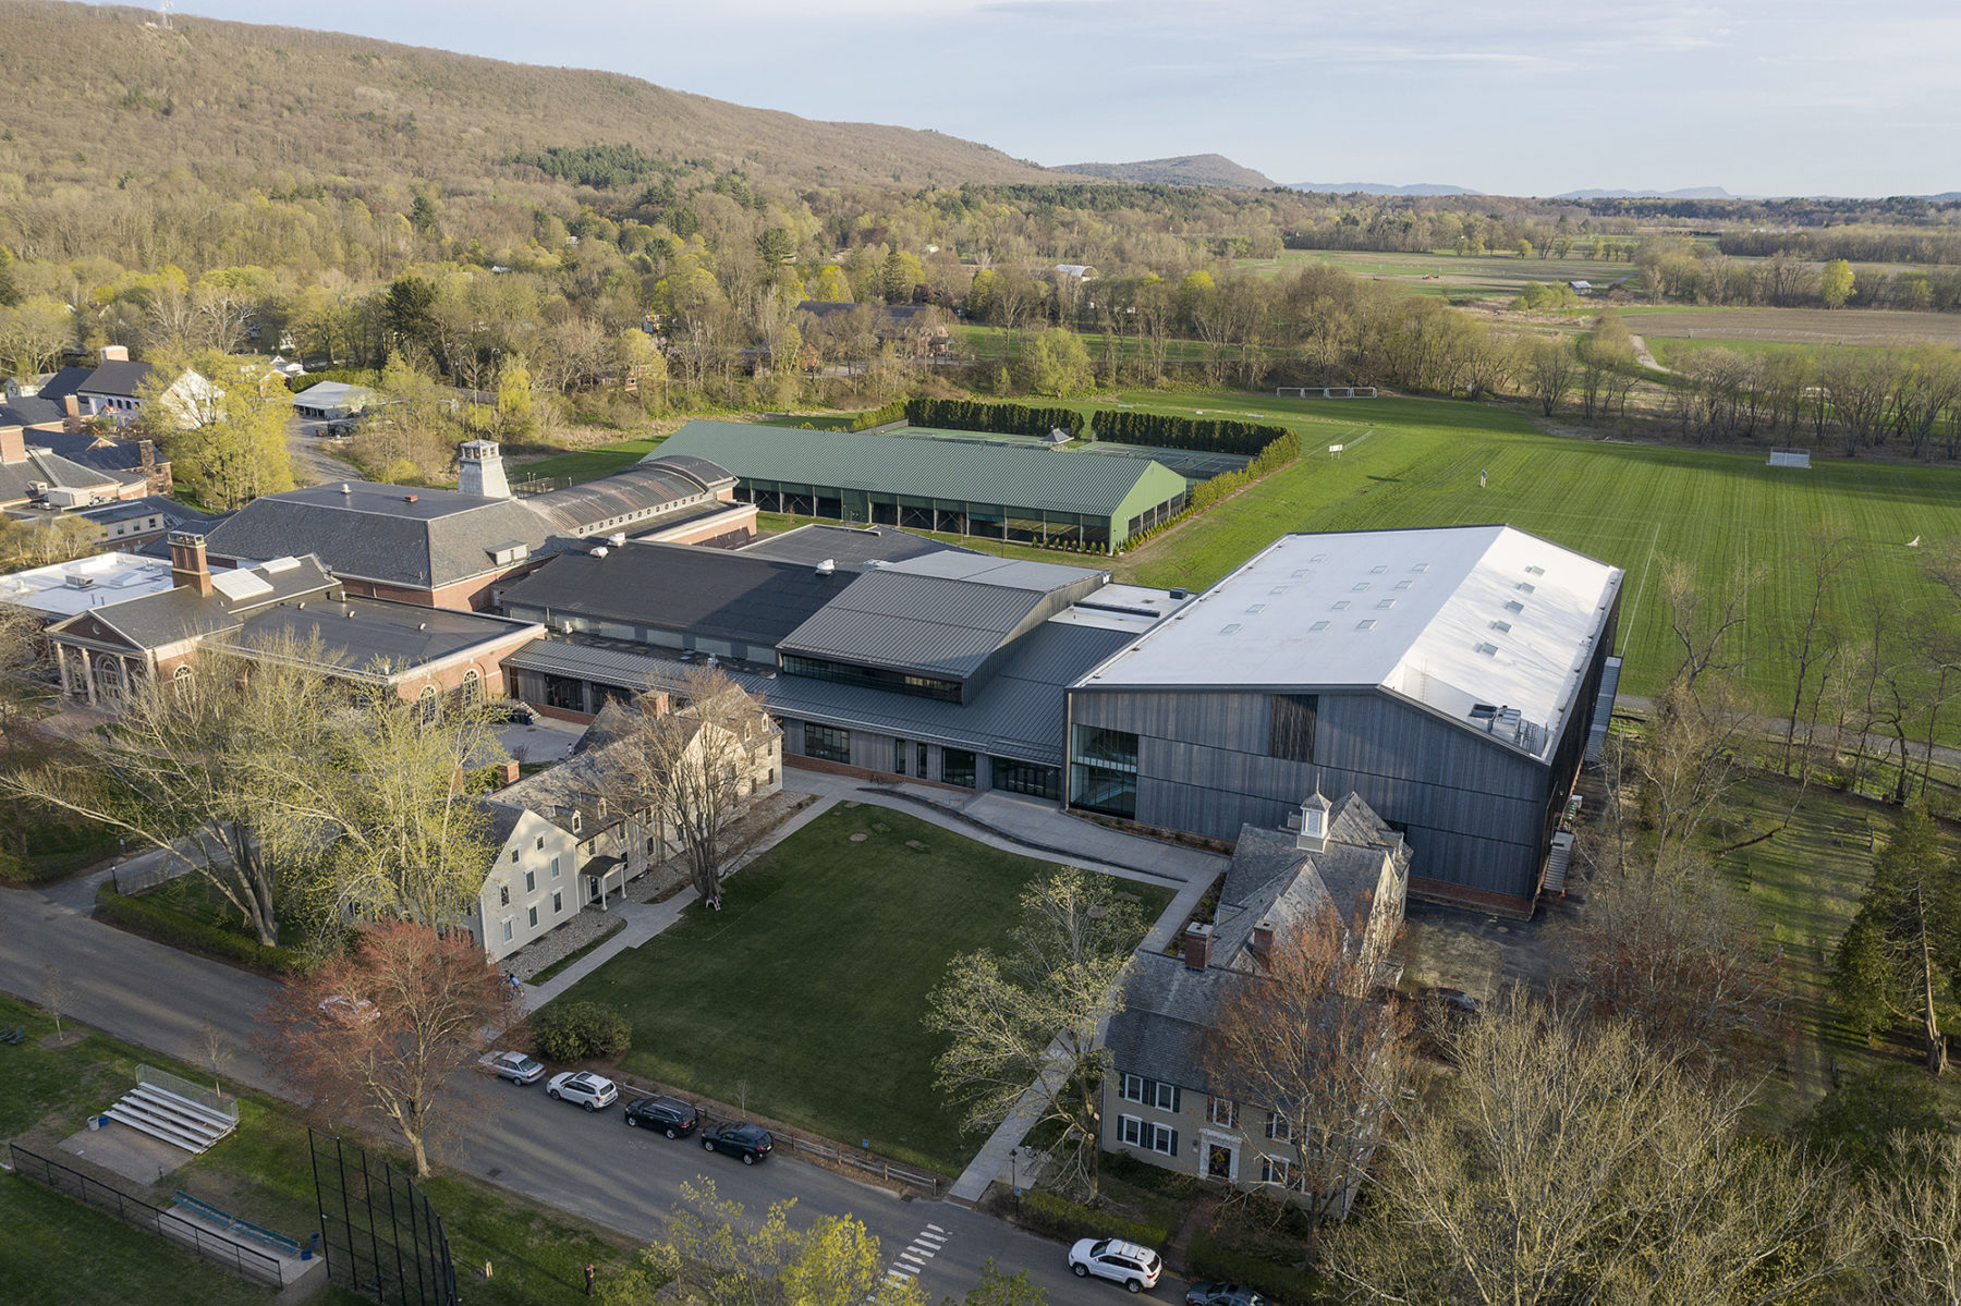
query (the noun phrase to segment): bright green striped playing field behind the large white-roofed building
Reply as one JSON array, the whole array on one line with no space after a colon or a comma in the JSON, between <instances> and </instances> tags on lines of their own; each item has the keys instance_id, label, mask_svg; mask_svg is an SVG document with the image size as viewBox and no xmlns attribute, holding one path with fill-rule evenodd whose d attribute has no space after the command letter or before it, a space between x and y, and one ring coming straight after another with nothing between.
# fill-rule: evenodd
<instances>
[{"instance_id":1,"label":"bright green striped playing field behind the large white-roofed building","mask_svg":"<svg viewBox=\"0 0 1961 1306\"><path fill-rule=\"evenodd\" d=\"M1920 563L1961 535L1961 469L1888 465L1816 449L1808 471L1765 453L1712 453L1541 435L1510 412L1451 400L1277 400L1182 396L1184 412L1304 416L1308 453L1184 527L1118 561L1141 584L1212 584L1286 531L1345 531L1504 522L1628 573L1622 692L1653 694L1677 665L1661 573L1686 561L1712 592L1761 571L1737 639L1747 680L1777 712L1790 694L1785 639L1798 629L1810 577L1804 533L1841 524L1857 541L1830 612L1857 629L1873 604L1934 602ZM1157 406L1157 404L1153 404ZM1369 427L1335 424L1373 418ZM1339 435L1339 439L1337 439ZM1345 443L1339 457L1330 443ZM1479 473L1490 484L1479 488ZM1920 537L1922 549L1908 549Z\"/></svg>"}]
</instances>

